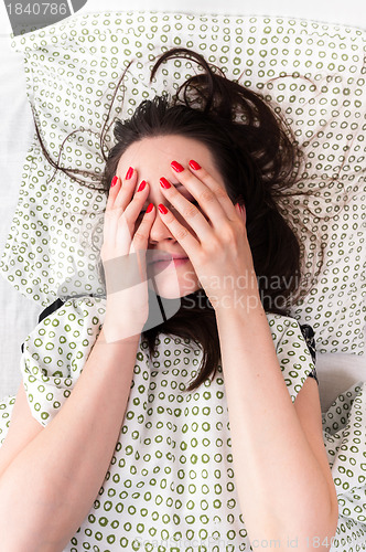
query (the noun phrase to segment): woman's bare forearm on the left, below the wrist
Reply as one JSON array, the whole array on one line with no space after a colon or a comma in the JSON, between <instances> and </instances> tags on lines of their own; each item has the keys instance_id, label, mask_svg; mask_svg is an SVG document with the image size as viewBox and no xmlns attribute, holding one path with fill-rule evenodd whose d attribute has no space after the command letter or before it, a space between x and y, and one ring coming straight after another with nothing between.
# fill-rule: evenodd
<instances>
[{"instance_id":1,"label":"woman's bare forearm on the left, below the wrist","mask_svg":"<svg viewBox=\"0 0 366 552\"><path fill-rule=\"evenodd\" d=\"M107 474L130 393L139 336L101 330L58 414L0 479L0 550L57 552L86 518Z\"/></svg>"}]
</instances>

